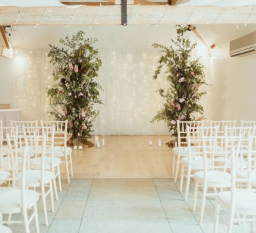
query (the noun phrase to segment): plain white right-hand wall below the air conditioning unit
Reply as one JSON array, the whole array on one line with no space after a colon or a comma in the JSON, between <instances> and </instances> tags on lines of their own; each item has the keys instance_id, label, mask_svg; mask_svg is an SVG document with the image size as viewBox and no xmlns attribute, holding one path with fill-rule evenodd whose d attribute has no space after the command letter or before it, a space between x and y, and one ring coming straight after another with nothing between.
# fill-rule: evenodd
<instances>
[{"instance_id":1,"label":"plain white right-hand wall below the air conditioning unit","mask_svg":"<svg viewBox=\"0 0 256 233\"><path fill-rule=\"evenodd\" d=\"M229 43L212 51L210 118L256 120L256 54L231 58Z\"/></svg>"}]
</instances>

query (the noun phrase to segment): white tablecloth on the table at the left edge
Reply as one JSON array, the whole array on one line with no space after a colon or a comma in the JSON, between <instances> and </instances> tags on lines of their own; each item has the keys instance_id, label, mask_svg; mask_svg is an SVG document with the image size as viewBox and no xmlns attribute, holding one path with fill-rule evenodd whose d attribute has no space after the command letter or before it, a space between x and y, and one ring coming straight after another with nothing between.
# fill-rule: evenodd
<instances>
[{"instance_id":1,"label":"white tablecloth on the table at the left edge","mask_svg":"<svg viewBox=\"0 0 256 233\"><path fill-rule=\"evenodd\" d=\"M3 127L10 127L10 120L22 120L21 109L0 109L0 120L3 120ZM3 136L5 138L5 130Z\"/></svg>"}]
</instances>

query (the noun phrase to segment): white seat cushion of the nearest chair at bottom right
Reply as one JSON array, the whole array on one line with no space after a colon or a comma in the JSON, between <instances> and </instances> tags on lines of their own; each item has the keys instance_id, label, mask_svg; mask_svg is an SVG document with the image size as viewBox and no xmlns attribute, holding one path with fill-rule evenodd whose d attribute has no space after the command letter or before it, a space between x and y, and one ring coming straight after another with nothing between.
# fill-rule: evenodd
<instances>
[{"instance_id":1,"label":"white seat cushion of the nearest chair at bottom right","mask_svg":"<svg viewBox=\"0 0 256 233\"><path fill-rule=\"evenodd\" d=\"M220 192L216 196L217 202L221 202L226 206L230 205L231 192ZM256 193L246 191L235 192L235 213L239 211L255 211L256 212Z\"/></svg>"}]
</instances>

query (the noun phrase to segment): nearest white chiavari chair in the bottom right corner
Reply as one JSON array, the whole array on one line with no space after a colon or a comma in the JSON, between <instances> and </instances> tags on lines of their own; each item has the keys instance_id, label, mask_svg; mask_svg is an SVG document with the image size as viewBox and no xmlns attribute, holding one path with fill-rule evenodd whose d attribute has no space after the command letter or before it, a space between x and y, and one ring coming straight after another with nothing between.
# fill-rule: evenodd
<instances>
[{"instance_id":1,"label":"nearest white chiavari chair in the bottom right corner","mask_svg":"<svg viewBox=\"0 0 256 233\"><path fill-rule=\"evenodd\" d=\"M231 149L231 190L220 192L216 195L214 233L218 232L219 217L222 218L220 208L229 212L228 220L225 219L228 225L227 233L232 232L234 222L238 224L241 222L240 214L244 216L243 221L251 222L251 232L254 232L253 228L256 221L256 189L251 188L251 181L252 174L255 173L255 169L252 169L252 160L255 160L256 150L252 150L252 138L250 135L247 138L247 142L247 149L241 148L241 150L235 150L234 147ZM248 163L245 169L240 169L237 167L237 161L243 154L246 154ZM252 158L252 154L254 158ZM246 175L241 177L238 175L239 172L246 173ZM244 188L237 188L237 183L246 183L247 185ZM234 218L235 213L236 218Z\"/></svg>"}]
</instances>

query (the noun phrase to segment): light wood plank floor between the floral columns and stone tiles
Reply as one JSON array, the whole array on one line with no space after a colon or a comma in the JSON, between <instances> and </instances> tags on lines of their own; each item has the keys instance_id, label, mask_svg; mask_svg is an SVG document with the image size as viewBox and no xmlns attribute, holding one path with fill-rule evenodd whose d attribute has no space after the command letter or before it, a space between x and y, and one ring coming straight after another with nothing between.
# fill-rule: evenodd
<instances>
[{"instance_id":1,"label":"light wood plank floor between the floral columns and stone tiles","mask_svg":"<svg viewBox=\"0 0 256 233\"><path fill-rule=\"evenodd\" d=\"M158 147L157 135L114 135L105 137L104 147L73 150L72 178L172 178L172 149L165 145L171 137L161 139ZM65 178L64 164L61 171Z\"/></svg>"}]
</instances>

